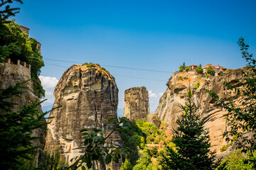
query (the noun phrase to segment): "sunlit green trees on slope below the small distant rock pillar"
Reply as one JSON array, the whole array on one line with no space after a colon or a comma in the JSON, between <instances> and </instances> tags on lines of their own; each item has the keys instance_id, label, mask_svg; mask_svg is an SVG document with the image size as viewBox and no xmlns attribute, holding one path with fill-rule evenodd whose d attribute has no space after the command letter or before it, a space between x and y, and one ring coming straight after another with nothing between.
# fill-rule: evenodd
<instances>
[{"instance_id":1,"label":"sunlit green trees on slope below the small distant rock pillar","mask_svg":"<svg viewBox=\"0 0 256 170\"><path fill-rule=\"evenodd\" d=\"M145 122L145 119L126 123L125 125L129 130L121 130L122 139L125 145L133 150L127 157L129 164L133 169L156 169L156 165L151 162L151 157L158 156L157 148L149 149L146 144L164 143L164 130L159 130L152 123ZM125 164L128 164L128 162ZM124 170L124 165L122 167Z\"/></svg>"}]
</instances>

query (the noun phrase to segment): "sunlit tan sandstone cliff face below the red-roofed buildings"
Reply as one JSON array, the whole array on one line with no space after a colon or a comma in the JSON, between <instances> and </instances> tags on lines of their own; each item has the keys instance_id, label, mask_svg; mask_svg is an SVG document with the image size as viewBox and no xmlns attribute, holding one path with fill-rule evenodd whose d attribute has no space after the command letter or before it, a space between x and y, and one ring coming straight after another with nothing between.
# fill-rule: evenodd
<instances>
[{"instance_id":1,"label":"sunlit tan sandstone cliff face below the red-roofed buildings","mask_svg":"<svg viewBox=\"0 0 256 170\"><path fill-rule=\"evenodd\" d=\"M246 68L244 69L246 71ZM184 77L187 78L184 79ZM224 81L239 86L237 79L243 79L240 69L235 69L222 77L210 77L210 79L203 78L201 74L196 72L174 73L166 84L168 88L160 98L159 107L156 108L155 113L160 120L166 121L169 129L176 128L176 120L183 113L180 104L185 104L187 88L190 86L193 89L194 84L200 82L198 89L193 89L194 101L196 104L200 103L201 107L198 109L198 113L203 113L203 119L206 119L205 126L210 130L210 149L216 150L217 154L222 154L220 148L227 145L223 138L223 132L227 130L224 116L226 111L224 108L215 105L215 102L203 88L215 91L220 98L224 98L226 101L228 101L228 98L232 98L240 106L238 96L226 90L223 86Z\"/></svg>"}]
</instances>

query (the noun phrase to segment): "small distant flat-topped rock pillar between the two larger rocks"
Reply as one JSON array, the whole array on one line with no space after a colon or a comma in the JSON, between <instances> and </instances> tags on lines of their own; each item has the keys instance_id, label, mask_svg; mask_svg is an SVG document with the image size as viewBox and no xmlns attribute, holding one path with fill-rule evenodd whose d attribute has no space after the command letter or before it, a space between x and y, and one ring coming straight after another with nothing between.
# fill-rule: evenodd
<instances>
[{"instance_id":1,"label":"small distant flat-topped rock pillar between the two larger rocks","mask_svg":"<svg viewBox=\"0 0 256 170\"><path fill-rule=\"evenodd\" d=\"M124 102L124 117L129 120L146 118L149 114L149 92L144 86L124 91Z\"/></svg>"}]
</instances>

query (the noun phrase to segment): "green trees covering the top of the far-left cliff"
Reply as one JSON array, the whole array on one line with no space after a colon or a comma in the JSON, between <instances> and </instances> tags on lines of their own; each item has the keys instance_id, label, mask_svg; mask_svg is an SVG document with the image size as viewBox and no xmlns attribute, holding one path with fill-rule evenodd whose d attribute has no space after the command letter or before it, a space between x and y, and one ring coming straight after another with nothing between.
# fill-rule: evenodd
<instances>
[{"instance_id":1,"label":"green trees covering the top of the far-left cliff","mask_svg":"<svg viewBox=\"0 0 256 170\"><path fill-rule=\"evenodd\" d=\"M4 58L9 57L11 61L26 62L31 64L31 78L33 81L33 91L39 98L45 96L45 91L41 86L38 76L41 73L41 67L44 66L43 57L36 48L37 41L33 38L28 38L26 33L23 33L18 24L14 21L9 21L1 25L0 29L0 62Z\"/></svg>"}]
</instances>

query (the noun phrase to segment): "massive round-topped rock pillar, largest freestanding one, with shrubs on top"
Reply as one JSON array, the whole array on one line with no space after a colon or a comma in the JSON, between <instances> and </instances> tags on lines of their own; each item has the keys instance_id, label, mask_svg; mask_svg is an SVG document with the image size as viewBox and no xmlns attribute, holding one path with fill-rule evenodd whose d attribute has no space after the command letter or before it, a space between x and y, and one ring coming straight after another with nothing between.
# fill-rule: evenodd
<instances>
[{"instance_id":1,"label":"massive round-topped rock pillar, largest freestanding one, with shrubs on top","mask_svg":"<svg viewBox=\"0 0 256 170\"><path fill-rule=\"evenodd\" d=\"M100 69L73 65L61 77L55 91L54 116L48 125L46 150L60 150L65 162L83 153L82 128L101 128L107 135L112 128L108 118L117 118L118 89L114 77ZM107 142L121 143L119 132L114 132ZM119 169L120 164L112 164ZM106 169L104 162L95 162L93 169Z\"/></svg>"}]
</instances>

